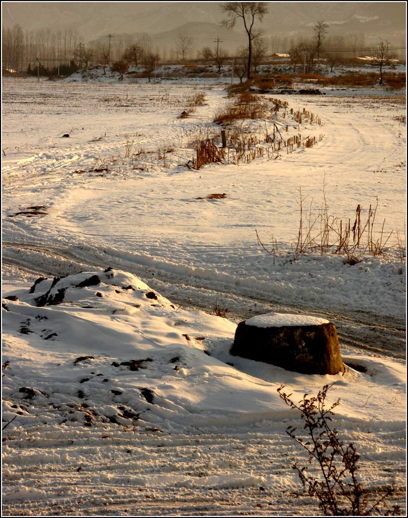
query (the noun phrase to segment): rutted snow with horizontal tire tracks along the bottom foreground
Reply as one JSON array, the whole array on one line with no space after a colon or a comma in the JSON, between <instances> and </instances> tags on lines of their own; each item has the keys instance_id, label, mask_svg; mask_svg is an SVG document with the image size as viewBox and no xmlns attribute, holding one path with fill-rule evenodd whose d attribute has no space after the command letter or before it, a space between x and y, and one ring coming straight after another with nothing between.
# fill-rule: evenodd
<instances>
[{"instance_id":1,"label":"rutted snow with horizontal tire tracks along the bottom foreground","mask_svg":"<svg viewBox=\"0 0 408 518\"><path fill-rule=\"evenodd\" d=\"M363 453L360 477L374 491L396 482L392 502L404 510L404 429L381 426L375 444L372 430L355 434L357 451ZM133 430L38 425L28 436L13 430L4 442L3 512L315 515L316 501L301 496L291 469L293 458L298 463L307 459L284 428L265 422L246 430L189 430L187 435L149 431L139 422ZM309 467L316 474L315 469Z\"/></svg>"}]
</instances>

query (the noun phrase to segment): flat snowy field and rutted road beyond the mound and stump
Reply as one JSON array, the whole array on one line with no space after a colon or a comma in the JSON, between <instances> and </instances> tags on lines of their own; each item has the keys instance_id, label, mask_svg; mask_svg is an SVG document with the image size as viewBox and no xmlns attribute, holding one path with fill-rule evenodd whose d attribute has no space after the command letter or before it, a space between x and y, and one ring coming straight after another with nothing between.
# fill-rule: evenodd
<instances>
[{"instance_id":1,"label":"flat snowy field and rutted road beyond the mound and stump","mask_svg":"<svg viewBox=\"0 0 408 518\"><path fill-rule=\"evenodd\" d=\"M4 140L17 142L3 163L5 271L31 282L113 266L177 304L211 311L217 301L236 320L261 311L307 311L332 319L349 346L402 357L405 268L397 260L360 268L340 257L308 257L298 264L287 252L272 265L255 237L258 229L265 243L273 235L278 248L290 250L298 188L319 207L324 182L329 209L339 217L353 217L359 203L367 209L378 196L387 231L401 231L405 142L392 119L403 108L400 97L290 96L290 106L321 117L322 127L299 129L304 136L324 133L316 146L273 162L192 172L177 167L191 151L180 147L161 163L157 148L163 134L166 145L185 147L194 128L228 102L220 87L205 90L206 105L177 119L194 89L5 82ZM135 151L148 151L143 161L123 161L127 135ZM96 163L109 163L111 173L87 173ZM195 199L211 192L228 197ZM47 215L11 217L41 205Z\"/></svg>"}]
</instances>

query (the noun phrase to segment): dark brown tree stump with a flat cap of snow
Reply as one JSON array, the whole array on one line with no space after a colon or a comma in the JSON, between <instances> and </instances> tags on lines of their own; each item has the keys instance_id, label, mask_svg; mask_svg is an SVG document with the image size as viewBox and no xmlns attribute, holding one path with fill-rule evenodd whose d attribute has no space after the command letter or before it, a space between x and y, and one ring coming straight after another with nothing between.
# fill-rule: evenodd
<instances>
[{"instance_id":1,"label":"dark brown tree stump with a flat cap of snow","mask_svg":"<svg viewBox=\"0 0 408 518\"><path fill-rule=\"evenodd\" d=\"M309 315L266 313L240 322L231 354L304 374L344 372L335 325Z\"/></svg>"}]
</instances>

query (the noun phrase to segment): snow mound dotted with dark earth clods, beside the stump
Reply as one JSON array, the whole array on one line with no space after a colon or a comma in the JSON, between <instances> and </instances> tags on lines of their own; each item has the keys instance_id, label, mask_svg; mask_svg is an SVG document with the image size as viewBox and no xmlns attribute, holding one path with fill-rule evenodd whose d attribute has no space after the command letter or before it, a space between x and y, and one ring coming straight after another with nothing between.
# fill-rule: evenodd
<instances>
[{"instance_id":1,"label":"snow mound dotted with dark earth clods, beside the stump","mask_svg":"<svg viewBox=\"0 0 408 518\"><path fill-rule=\"evenodd\" d=\"M300 315L254 321L283 325L298 318L310 322ZM388 409L370 394L391 384L399 394L405 386L404 366L386 358L365 357L365 372L312 376L232 356L235 323L176 308L139 278L112 268L37 279L3 299L3 324L8 431L144 422L171 433L280 422L292 411L279 386L289 385L300 399L331 382L333 400L342 400L340 414L381 420L389 419ZM361 357L347 353L345 362L358 366ZM403 419L403 399L393 410L395 420Z\"/></svg>"}]
</instances>

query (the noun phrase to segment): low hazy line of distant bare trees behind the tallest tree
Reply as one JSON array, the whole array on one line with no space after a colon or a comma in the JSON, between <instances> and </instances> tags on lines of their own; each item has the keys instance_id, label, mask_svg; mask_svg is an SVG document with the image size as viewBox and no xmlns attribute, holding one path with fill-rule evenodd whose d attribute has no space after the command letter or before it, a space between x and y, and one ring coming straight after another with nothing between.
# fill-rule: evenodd
<instances>
[{"instance_id":1,"label":"low hazy line of distant bare trees behind the tallest tree","mask_svg":"<svg viewBox=\"0 0 408 518\"><path fill-rule=\"evenodd\" d=\"M337 64L343 59L369 55L370 47L364 34L330 35L330 27L327 27L327 36L317 48L318 59ZM237 63L240 59L245 60L247 52L245 46L234 52L227 52L218 44L199 47L194 35L185 33L180 33L170 40L171 46L165 47L154 46L154 37L146 33L108 34L85 45L84 38L75 29L23 31L19 25L4 27L2 38L3 71L49 76L65 76L79 68L96 64L105 67L119 61L146 67L152 60L157 63L158 60L199 59L212 62L220 69L225 60L234 58ZM302 64L310 70L316 59L316 40L312 34L309 38L264 34L254 41L253 53L255 67L266 56L284 53L291 56L295 68ZM405 49L397 49L394 53L401 61L405 60Z\"/></svg>"}]
</instances>

